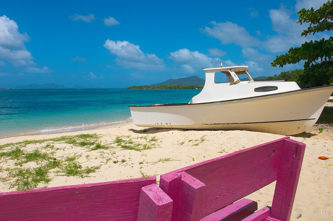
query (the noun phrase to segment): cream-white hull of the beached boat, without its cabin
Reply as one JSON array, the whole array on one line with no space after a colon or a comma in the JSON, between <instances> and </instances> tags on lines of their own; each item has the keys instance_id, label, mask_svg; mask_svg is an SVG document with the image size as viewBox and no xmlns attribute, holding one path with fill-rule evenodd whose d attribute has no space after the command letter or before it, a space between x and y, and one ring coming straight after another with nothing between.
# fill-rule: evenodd
<instances>
[{"instance_id":1,"label":"cream-white hull of the beached boat, without its cabin","mask_svg":"<svg viewBox=\"0 0 333 221\"><path fill-rule=\"evenodd\" d=\"M306 131L318 120L333 86L198 104L130 106L141 127L248 130L281 135Z\"/></svg>"}]
</instances>

